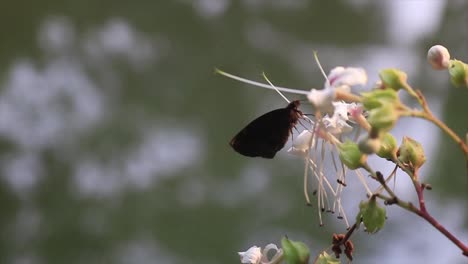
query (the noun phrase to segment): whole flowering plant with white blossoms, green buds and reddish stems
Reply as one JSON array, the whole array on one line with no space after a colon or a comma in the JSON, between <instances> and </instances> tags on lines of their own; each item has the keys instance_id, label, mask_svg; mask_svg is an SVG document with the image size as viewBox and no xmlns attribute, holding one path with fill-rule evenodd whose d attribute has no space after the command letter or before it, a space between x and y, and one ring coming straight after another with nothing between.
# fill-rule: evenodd
<instances>
[{"instance_id":1,"label":"whole flowering plant with white blossoms, green buds and reddish stems","mask_svg":"<svg viewBox=\"0 0 468 264\"><path fill-rule=\"evenodd\" d=\"M445 47L433 46L428 51L427 59L433 69L448 70L455 86L468 87L468 65L458 60L451 60ZM318 65L320 67L320 63ZM409 137L404 137L398 146L391 130L401 117L422 118L437 125L457 142L466 160L468 160L468 144L433 116L422 93L408 84L406 73L398 69L384 69L379 73L380 80L370 91L354 94L351 91L353 86L367 84L367 74L362 68L336 67L325 76L326 81L322 89L310 91L275 87L268 79L267 85L219 70L217 72L242 82L274 89L280 94L288 92L307 96L314 113L311 118L305 115L302 117L308 119L310 127L302 125L305 129L294 137L288 153L304 162L304 196L308 204L311 204L309 185L315 186L317 190L316 204L320 225L323 225L322 212L338 212L338 218L344 219L349 229L346 235L340 235L340 239L334 241L333 252L336 257L339 256L337 252L341 253L341 248L344 246L345 253L346 250L349 251L346 254L348 259L352 259L354 246L349 241L349 237L361 224L369 233L383 228L386 210L379 205L378 200L383 200L386 205L397 204L426 219L447 237L453 237L440 224L434 225L435 220L425 208L422 192L429 188L427 184L421 183L418 177L419 169L426 161L424 149L421 144ZM399 90L413 97L421 109L413 109L402 103L398 95ZM284 95L282 96L289 101ZM367 163L367 157L373 154L394 163L395 169L386 177L381 172L374 171ZM326 174L325 167L334 168L334 173ZM360 169L377 181L380 184L379 188L371 191ZM410 202L403 202L387 185L396 175L397 169L410 176L419 198L420 208L416 208ZM359 213L352 227L341 204L341 193L346 187L345 179L349 172L356 174L369 197L368 201L360 203ZM309 184L310 175L314 179L312 184ZM456 241L455 244L468 255L465 245ZM283 239L282 246L282 249L278 249L275 245L269 244L263 252L259 247L251 247L246 252L239 252L241 263L273 264L280 263L283 258L288 263L307 263L309 251L303 243ZM267 254L271 250L276 253L268 259ZM317 257L317 260L334 263L332 257L325 251Z\"/></svg>"}]
</instances>

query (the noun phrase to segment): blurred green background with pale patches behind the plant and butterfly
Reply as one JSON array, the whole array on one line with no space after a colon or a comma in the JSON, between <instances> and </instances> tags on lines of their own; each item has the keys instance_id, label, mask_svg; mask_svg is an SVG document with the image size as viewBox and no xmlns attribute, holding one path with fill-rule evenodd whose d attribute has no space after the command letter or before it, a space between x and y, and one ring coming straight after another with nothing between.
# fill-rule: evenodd
<instances>
[{"instance_id":1,"label":"blurred green background with pale patches behind the plant and butterfly","mask_svg":"<svg viewBox=\"0 0 468 264\"><path fill-rule=\"evenodd\" d=\"M302 162L228 145L285 102L213 69L310 89L324 82L314 50L326 71L364 67L370 83L397 67L463 134L468 92L425 56L443 44L468 61L467 14L467 2L442 0L4 1L0 263L239 263L238 251L283 235L319 252L345 227L336 216L318 226ZM427 146L429 209L468 242L459 149L427 122L394 132ZM414 199L404 177L397 192ZM353 219L364 190L351 182L343 197ZM390 207L388 218L353 237L356 263L466 263L417 217Z\"/></svg>"}]
</instances>

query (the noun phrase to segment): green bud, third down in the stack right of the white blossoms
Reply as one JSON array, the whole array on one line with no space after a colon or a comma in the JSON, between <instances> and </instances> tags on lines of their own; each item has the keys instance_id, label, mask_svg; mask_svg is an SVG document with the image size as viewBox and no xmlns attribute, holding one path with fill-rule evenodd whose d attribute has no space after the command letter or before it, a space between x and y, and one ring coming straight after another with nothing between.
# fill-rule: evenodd
<instances>
[{"instance_id":1,"label":"green bud, third down in the stack right of the white blossoms","mask_svg":"<svg viewBox=\"0 0 468 264\"><path fill-rule=\"evenodd\" d=\"M367 121L376 131L389 131L395 126L399 117L393 105L385 104L382 107L370 110Z\"/></svg>"}]
</instances>

